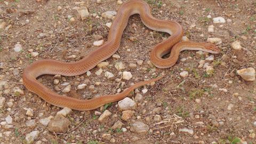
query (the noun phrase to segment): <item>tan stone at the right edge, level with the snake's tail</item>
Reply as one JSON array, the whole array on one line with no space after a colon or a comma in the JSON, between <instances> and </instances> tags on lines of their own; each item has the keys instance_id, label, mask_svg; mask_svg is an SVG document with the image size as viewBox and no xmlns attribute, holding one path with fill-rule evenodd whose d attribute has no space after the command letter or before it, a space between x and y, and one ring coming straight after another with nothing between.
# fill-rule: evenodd
<instances>
[{"instance_id":1,"label":"tan stone at the right edge, level with the snake's tail","mask_svg":"<svg viewBox=\"0 0 256 144\"><path fill-rule=\"evenodd\" d=\"M245 81L255 81L255 69L252 67L239 69L236 73Z\"/></svg>"}]
</instances>

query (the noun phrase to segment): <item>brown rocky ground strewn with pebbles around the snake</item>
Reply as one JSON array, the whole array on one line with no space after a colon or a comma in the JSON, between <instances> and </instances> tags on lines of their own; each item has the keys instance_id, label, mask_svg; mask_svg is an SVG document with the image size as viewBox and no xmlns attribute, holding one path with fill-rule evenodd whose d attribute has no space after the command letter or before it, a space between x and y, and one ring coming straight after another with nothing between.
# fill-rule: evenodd
<instances>
[{"instance_id":1,"label":"brown rocky ground strewn with pebbles around the snake","mask_svg":"<svg viewBox=\"0 0 256 144\"><path fill-rule=\"evenodd\" d=\"M91 99L166 74L119 102L72 111L23 86L30 63L77 61L106 42L124 2L0 0L1 143L256 143L253 0L146 0L154 17L182 25L183 41L214 43L220 54L183 51L175 66L158 69L149 52L169 35L134 15L111 58L80 76L38 78L59 94Z\"/></svg>"}]
</instances>

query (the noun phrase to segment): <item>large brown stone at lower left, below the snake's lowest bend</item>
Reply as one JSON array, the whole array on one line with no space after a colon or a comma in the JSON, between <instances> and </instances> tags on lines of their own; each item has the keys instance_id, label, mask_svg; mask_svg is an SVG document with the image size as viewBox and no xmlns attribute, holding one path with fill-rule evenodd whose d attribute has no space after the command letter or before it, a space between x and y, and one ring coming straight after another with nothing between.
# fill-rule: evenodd
<instances>
[{"instance_id":1,"label":"large brown stone at lower left, below the snake's lowest bend","mask_svg":"<svg viewBox=\"0 0 256 144\"><path fill-rule=\"evenodd\" d=\"M62 115L56 115L48 124L50 132L66 133L70 121Z\"/></svg>"}]
</instances>

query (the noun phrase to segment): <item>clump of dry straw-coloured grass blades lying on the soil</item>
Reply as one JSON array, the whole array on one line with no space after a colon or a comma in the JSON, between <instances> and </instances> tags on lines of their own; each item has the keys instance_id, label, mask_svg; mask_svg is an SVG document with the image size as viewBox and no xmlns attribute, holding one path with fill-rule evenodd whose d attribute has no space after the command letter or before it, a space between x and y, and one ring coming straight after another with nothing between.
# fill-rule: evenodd
<instances>
[{"instance_id":1,"label":"clump of dry straw-coloured grass blades lying on the soil","mask_svg":"<svg viewBox=\"0 0 256 144\"><path fill-rule=\"evenodd\" d=\"M157 127L154 127L152 130L163 129L165 127L171 127L170 130L173 130L173 127L175 127L175 130L176 130L178 127L178 124L181 124L181 123L187 123L187 122L183 120L182 117L176 114L173 114L170 117L163 119L163 121L154 124L154 126L161 125L161 124L165 124L165 126L159 126L159 127L157 126Z\"/></svg>"}]
</instances>

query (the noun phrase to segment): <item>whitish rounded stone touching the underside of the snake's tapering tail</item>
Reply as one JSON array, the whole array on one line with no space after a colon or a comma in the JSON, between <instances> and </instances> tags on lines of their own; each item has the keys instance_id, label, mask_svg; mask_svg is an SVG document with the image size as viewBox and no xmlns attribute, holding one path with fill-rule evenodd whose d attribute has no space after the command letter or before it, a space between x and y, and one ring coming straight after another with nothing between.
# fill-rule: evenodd
<instances>
[{"instance_id":1,"label":"whitish rounded stone touching the underside of the snake's tapering tail","mask_svg":"<svg viewBox=\"0 0 256 144\"><path fill-rule=\"evenodd\" d=\"M118 108L120 111L133 110L136 109L136 107L136 102L130 98L124 98L123 100L118 101Z\"/></svg>"}]
</instances>

